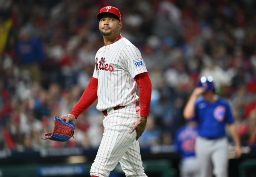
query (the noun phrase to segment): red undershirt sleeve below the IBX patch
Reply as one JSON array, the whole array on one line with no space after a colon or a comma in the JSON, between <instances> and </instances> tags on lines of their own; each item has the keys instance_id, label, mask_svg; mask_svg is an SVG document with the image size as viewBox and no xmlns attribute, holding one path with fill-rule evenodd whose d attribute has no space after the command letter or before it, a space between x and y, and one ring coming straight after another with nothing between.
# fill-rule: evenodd
<instances>
[{"instance_id":1,"label":"red undershirt sleeve below the IBX patch","mask_svg":"<svg viewBox=\"0 0 256 177\"><path fill-rule=\"evenodd\" d=\"M139 85L139 98L141 104L141 117L148 117L150 102L151 102L151 92L152 84L150 77L147 72L141 73L134 77L134 80Z\"/></svg>"}]
</instances>

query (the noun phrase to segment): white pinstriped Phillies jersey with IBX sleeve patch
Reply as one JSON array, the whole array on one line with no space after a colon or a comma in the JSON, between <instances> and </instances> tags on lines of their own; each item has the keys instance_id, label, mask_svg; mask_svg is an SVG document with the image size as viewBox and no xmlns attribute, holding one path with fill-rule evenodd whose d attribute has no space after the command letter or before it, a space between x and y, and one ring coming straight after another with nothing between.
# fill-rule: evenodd
<instances>
[{"instance_id":1,"label":"white pinstriped Phillies jersey with IBX sleeve patch","mask_svg":"<svg viewBox=\"0 0 256 177\"><path fill-rule=\"evenodd\" d=\"M147 72L141 52L129 40L119 37L114 43L101 47L95 55L93 77L98 79L96 108L108 108L132 103L137 83L134 77Z\"/></svg>"}]
</instances>

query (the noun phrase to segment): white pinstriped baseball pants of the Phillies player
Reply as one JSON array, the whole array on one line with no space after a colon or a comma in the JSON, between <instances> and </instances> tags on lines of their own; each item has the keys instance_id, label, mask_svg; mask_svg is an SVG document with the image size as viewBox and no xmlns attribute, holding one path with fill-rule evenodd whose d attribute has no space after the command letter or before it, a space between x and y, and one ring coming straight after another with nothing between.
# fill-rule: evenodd
<instances>
[{"instance_id":1,"label":"white pinstriped baseball pants of the Phillies player","mask_svg":"<svg viewBox=\"0 0 256 177\"><path fill-rule=\"evenodd\" d=\"M137 110L138 111L138 110ZM126 177L147 177L142 167L139 142L136 131L130 133L139 118L135 103L123 109L108 109L104 117L104 134L90 174L108 177L120 162Z\"/></svg>"}]
</instances>

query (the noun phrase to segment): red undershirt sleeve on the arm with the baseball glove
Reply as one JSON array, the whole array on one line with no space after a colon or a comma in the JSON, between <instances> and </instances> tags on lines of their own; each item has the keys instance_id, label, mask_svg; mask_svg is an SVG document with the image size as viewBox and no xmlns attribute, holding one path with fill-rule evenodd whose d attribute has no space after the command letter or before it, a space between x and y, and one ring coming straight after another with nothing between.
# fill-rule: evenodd
<instances>
[{"instance_id":1,"label":"red undershirt sleeve on the arm with the baseball glove","mask_svg":"<svg viewBox=\"0 0 256 177\"><path fill-rule=\"evenodd\" d=\"M77 117L84 112L89 106L91 106L98 98L98 79L92 77L88 86L85 89L85 92L81 96L80 100L76 103L74 109L70 112L73 114L76 119Z\"/></svg>"}]
</instances>

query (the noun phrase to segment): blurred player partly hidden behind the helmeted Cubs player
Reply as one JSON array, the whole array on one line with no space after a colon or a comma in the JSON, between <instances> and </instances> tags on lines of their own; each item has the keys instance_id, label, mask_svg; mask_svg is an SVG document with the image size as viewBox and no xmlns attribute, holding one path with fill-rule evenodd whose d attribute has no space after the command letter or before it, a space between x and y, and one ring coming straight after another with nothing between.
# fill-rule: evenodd
<instances>
[{"instance_id":1,"label":"blurred player partly hidden behind the helmeted Cubs player","mask_svg":"<svg viewBox=\"0 0 256 177\"><path fill-rule=\"evenodd\" d=\"M196 119L187 120L174 139L176 153L180 154L180 177L199 177L199 164L195 154L195 142L198 136Z\"/></svg>"}]
</instances>

